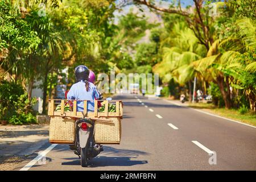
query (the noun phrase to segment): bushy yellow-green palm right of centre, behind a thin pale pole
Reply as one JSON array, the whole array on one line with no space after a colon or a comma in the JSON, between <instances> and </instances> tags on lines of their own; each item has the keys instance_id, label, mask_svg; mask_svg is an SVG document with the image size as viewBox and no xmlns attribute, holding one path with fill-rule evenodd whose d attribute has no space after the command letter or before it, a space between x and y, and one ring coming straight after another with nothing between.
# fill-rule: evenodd
<instances>
[{"instance_id":1,"label":"bushy yellow-green palm right of centre, behind a thin pale pole","mask_svg":"<svg viewBox=\"0 0 256 182\"><path fill-rule=\"evenodd\" d=\"M179 23L177 23L179 24ZM182 28L179 30L179 28ZM180 86L188 84L189 100L192 99L192 79L196 76L195 69L191 63L206 54L206 49L201 44L189 28L174 26L176 37L172 39L175 47L163 48L163 61L156 64L154 72L159 73L163 82L174 79ZM170 41L170 40L169 40Z\"/></svg>"}]
</instances>

